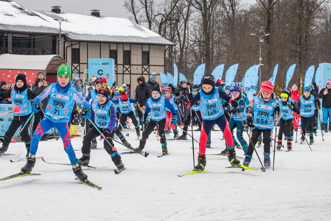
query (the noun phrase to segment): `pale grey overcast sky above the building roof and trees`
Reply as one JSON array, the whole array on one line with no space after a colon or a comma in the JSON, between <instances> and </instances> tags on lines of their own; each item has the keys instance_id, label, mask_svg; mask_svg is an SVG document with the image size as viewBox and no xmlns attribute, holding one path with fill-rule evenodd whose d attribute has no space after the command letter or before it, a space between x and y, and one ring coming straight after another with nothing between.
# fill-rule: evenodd
<instances>
[{"instance_id":1,"label":"pale grey overcast sky above the building roof and trees","mask_svg":"<svg viewBox=\"0 0 331 221\"><path fill-rule=\"evenodd\" d=\"M14 0L16 3L22 5L24 8L33 11L51 11L51 7L58 5L61 6L61 12L90 15L92 9L101 10L102 16L111 17L125 17L129 18L130 15L126 14L123 6L124 0ZM163 0L156 0L163 2ZM243 3L254 3L256 0L242 0Z\"/></svg>"}]
</instances>

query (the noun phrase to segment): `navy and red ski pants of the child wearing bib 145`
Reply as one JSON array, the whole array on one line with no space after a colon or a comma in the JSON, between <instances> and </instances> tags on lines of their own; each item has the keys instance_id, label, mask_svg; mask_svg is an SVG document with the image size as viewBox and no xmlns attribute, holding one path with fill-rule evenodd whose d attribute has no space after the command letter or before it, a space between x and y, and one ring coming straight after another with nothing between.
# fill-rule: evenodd
<instances>
[{"instance_id":1,"label":"navy and red ski pants of the child wearing bib 145","mask_svg":"<svg viewBox=\"0 0 331 221\"><path fill-rule=\"evenodd\" d=\"M232 134L229 128L229 123L226 120L225 115L222 114L214 120L202 120L200 145L199 145L200 155L206 154L206 144L207 144L208 134L210 133L213 125L215 124L218 125L218 127L222 130L224 134L227 149L232 150L234 148Z\"/></svg>"}]
</instances>

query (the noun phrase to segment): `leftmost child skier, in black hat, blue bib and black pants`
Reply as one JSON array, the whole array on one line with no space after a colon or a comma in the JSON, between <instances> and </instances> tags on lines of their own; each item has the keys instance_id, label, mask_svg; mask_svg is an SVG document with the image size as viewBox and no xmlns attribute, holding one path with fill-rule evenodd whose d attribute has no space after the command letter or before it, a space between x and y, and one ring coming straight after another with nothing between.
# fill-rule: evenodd
<instances>
[{"instance_id":1,"label":"leftmost child skier, in black hat, blue bib and black pants","mask_svg":"<svg viewBox=\"0 0 331 221\"><path fill-rule=\"evenodd\" d=\"M26 78L24 74L18 74L15 79L15 86L14 88L0 92L1 98L11 98L12 103L15 106L20 106L21 111L14 114L14 118L9 125L7 132L5 133L4 140L2 142L2 147L0 148L0 155L5 153L8 149L9 143L14 136L16 130L22 125L25 124L26 120L29 118L31 114L31 103L30 99L35 98L35 94L32 93L31 90L28 90L26 86ZM21 132L21 137L25 143L26 148L26 156L29 154L30 151L30 135L28 132L30 122L26 124L24 129Z\"/></svg>"}]
</instances>

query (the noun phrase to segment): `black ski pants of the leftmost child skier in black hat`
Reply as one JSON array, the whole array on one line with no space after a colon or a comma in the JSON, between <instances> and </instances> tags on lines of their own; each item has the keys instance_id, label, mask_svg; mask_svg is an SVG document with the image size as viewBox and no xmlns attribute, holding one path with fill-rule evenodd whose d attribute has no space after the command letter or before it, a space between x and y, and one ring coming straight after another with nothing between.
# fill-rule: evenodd
<instances>
[{"instance_id":1,"label":"black ski pants of the leftmost child skier in black hat","mask_svg":"<svg viewBox=\"0 0 331 221\"><path fill-rule=\"evenodd\" d=\"M32 114L32 113L31 113ZM3 144L2 146L8 146L9 143L11 142L16 130L20 127L23 126L24 123L26 122L27 118L29 118L29 115L24 115L24 116L14 116L13 120L11 122L11 124L9 125L9 128L7 130L7 132L5 133L5 137L3 140ZM22 139L25 142L25 146L26 144L30 144L30 135L29 135L29 125L30 125L30 121L26 124L26 126L24 127L24 129L22 130L20 136L22 137ZM21 127L22 129L22 127Z\"/></svg>"}]
</instances>

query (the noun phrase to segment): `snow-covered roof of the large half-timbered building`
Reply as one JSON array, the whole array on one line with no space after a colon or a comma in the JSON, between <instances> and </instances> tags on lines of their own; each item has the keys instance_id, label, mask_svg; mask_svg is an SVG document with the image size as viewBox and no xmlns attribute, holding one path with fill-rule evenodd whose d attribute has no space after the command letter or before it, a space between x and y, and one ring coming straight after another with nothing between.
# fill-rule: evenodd
<instances>
[{"instance_id":1,"label":"snow-covered roof of the large half-timbered building","mask_svg":"<svg viewBox=\"0 0 331 221\"><path fill-rule=\"evenodd\" d=\"M72 40L174 45L126 18L31 11L14 1L0 0L0 30L56 34L59 22L53 18L68 19L61 23L61 34Z\"/></svg>"}]
</instances>

